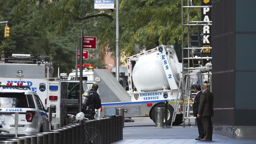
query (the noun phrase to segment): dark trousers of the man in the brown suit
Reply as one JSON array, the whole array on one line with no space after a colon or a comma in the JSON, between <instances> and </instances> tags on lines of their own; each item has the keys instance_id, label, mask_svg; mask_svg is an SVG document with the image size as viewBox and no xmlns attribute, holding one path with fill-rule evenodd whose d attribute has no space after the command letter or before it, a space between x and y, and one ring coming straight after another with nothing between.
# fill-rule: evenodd
<instances>
[{"instance_id":1,"label":"dark trousers of the man in the brown suit","mask_svg":"<svg viewBox=\"0 0 256 144\"><path fill-rule=\"evenodd\" d=\"M212 122L211 116L204 116L201 118L204 127L204 138L212 139Z\"/></svg>"}]
</instances>

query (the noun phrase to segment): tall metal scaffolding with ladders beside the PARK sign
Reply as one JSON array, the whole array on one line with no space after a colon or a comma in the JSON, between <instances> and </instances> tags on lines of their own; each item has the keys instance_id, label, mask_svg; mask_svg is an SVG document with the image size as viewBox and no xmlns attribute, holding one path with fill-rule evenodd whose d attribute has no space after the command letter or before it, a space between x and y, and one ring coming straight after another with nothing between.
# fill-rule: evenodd
<instances>
[{"instance_id":1,"label":"tall metal scaffolding with ladders beside the PARK sign","mask_svg":"<svg viewBox=\"0 0 256 144\"><path fill-rule=\"evenodd\" d=\"M184 6L184 1L187 3ZM204 83L204 77L208 76L208 85L211 86L211 67L204 66L206 60L211 61L211 54L205 55L202 52L204 50L211 50L211 47L204 47L201 44L203 26L211 26L212 21L201 21L201 20L191 20L189 10L196 8L210 9L212 6L193 6L192 0L181 0L182 8L182 79L179 84L179 94L177 100L182 100L182 102L176 103L174 113L177 113L178 107L183 108L183 127L186 127L186 120L188 120L188 125L190 126L190 119L195 119L196 117L191 115L191 107L193 103L192 91L193 85L200 85ZM184 9L186 12L186 22L184 22ZM186 28L186 29L185 29ZM185 37L187 42L184 42ZM187 53L187 55L185 55ZM192 63L192 65L191 65ZM200 72L195 72L198 70ZM204 71L204 72L203 72ZM191 81L191 77L197 77L197 83ZM211 88L211 87L210 87ZM172 124L175 120L175 115L173 114ZM171 127L172 127L171 124Z\"/></svg>"}]
</instances>

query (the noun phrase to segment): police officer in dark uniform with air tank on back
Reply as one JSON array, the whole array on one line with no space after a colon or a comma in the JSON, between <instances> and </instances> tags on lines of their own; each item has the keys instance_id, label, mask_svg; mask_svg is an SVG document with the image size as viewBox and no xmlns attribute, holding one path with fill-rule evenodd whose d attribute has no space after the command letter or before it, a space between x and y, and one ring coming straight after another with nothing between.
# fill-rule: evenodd
<instances>
[{"instance_id":1,"label":"police officer in dark uniform with air tank on back","mask_svg":"<svg viewBox=\"0 0 256 144\"><path fill-rule=\"evenodd\" d=\"M85 114L85 117L89 119L94 119L95 109L99 109L101 107L100 96L97 93L98 85L93 84L90 89L90 98L87 102L87 107L83 107L82 111Z\"/></svg>"}]
</instances>

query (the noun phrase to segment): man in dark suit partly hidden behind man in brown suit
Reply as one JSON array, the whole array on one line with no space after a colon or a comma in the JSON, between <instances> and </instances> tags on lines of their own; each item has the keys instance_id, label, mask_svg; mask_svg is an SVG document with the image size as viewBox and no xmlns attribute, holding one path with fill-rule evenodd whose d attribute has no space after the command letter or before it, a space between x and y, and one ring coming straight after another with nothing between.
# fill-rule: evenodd
<instances>
[{"instance_id":1,"label":"man in dark suit partly hidden behind man in brown suit","mask_svg":"<svg viewBox=\"0 0 256 144\"><path fill-rule=\"evenodd\" d=\"M193 114L194 114L194 116L197 116L200 95L202 94L200 85L195 85L195 90L197 92L197 96L195 97L195 101L193 103ZM204 138L204 128L202 125L201 118L197 118L197 128L198 128L199 136L198 136L198 138L196 138L196 140L200 140L200 139Z\"/></svg>"}]
</instances>

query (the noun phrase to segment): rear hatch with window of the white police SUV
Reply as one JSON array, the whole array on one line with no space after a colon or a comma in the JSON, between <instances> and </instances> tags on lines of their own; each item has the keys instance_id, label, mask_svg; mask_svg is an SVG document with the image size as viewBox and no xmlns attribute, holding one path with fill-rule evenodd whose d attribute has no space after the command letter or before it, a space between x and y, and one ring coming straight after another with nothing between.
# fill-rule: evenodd
<instances>
[{"instance_id":1,"label":"rear hatch with window of the white police SUV","mask_svg":"<svg viewBox=\"0 0 256 144\"><path fill-rule=\"evenodd\" d=\"M19 113L19 131L27 127L27 108L35 108L32 95L24 92L0 92L0 125L3 130L15 131L15 112Z\"/></svg>"}]
</instances>

